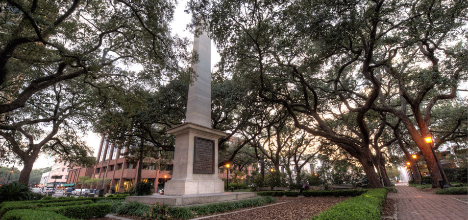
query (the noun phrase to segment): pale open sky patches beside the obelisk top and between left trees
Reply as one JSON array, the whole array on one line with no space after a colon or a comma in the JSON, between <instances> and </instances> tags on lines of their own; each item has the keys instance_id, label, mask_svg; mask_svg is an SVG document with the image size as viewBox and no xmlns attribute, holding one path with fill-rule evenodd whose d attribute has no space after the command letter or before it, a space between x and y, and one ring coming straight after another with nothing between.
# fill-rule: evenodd
<instances>
[{"instance_id":1,"label":"pale open sky patches beside the obelisk top and between left trees","mask_svg":"<svg viewBox=\"0 0 468 220\"><path fill-rule=\"evenodd\" d=\"M181 0L178 2L175 11L174 11L174 20L171 23L172 34L177 34L180 37L186 37L193 41L194 36L190 33L189 30L186 29L187 24L191 21L192 16L184 12L185 6L187 4L187 0ZM214 64L219 62L221 59L220 54L217 52L217 49L213 42L211 42L211 68L213 69ZM99 142L100 142L100 134L94 132L88 132L87 134L83 135L82 137L86 144L94 149L93 156L98 155L99 150ZM33 169L49 167L54 164L54 158L51 158L48 155L40 155L36 162L34 163ZM18 166L16 166L18 167ZM19 166L18 169L23 169L22 166Z\"/></svg>"}]
</instances>

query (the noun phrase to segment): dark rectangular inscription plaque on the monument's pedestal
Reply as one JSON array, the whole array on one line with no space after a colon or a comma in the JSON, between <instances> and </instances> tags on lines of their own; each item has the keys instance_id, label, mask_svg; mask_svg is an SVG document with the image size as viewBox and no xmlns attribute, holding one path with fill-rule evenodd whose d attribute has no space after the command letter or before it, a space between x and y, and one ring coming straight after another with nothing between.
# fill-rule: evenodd
<instances>
[{"instance_id":1,"label":"dark rectangular inscription plaque on the monument's pedestal","mask_svg":"<svg viewBox=\"0 0 468 220\"><path fill-rule=\"evenodd\" d=\"M215 141L195 137L194 174L215 173Z\"/></svg>"}]
</instances>

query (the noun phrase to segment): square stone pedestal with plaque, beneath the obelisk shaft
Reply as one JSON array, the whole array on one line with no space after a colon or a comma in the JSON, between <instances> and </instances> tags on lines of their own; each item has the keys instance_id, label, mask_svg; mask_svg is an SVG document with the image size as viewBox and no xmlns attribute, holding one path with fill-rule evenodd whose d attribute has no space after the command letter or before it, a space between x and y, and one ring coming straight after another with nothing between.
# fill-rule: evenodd
<instances>
[{"instance_id":1,"label":"square stone pedestal with plaque, beneath the obelisk shaft","mask_svg":"<svg viewBox=\"0 0 468 220\"><path fill-rule=\"evenodd\" d=\"M167 131L175 136L172 179L164 195L223 193L218 178L218 139L226 133L191 122Z\"/></svg>"}]
</instances>

